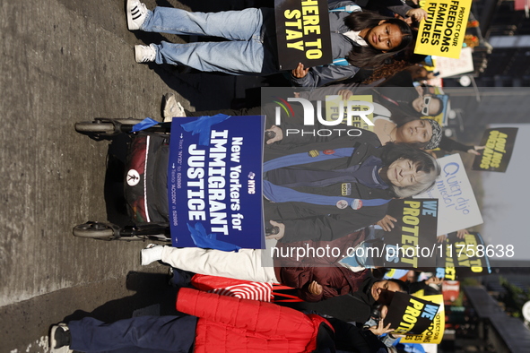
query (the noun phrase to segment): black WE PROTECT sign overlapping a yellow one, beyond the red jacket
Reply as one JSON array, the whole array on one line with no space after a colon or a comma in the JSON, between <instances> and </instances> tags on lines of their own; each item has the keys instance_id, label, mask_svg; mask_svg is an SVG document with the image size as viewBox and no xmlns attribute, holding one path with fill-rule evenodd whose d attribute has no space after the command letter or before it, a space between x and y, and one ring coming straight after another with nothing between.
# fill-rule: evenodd
<instances>
[{"instance_id":1,"label":"black WE PROTECT sign overlapping a yellow one, beyond the red jacket","mask_svg":"<svg viewBox=\"0 0 530 353\"><path fill-rule=\"evenodd\" d=\"M421 334L429 328L439 307L439 304L420 297L395 292L384 323L386 325L390 323L390 327L395 329L393 331L395 334Z\"/></svg>"}]
</instances>

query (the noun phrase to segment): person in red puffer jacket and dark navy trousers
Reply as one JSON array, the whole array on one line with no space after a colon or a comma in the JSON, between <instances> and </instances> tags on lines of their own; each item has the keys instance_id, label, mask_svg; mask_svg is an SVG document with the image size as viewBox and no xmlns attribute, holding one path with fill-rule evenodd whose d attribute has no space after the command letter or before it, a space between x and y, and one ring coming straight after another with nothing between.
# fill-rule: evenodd
<instances>
[{"instance_id":1,"label":"person in red puffer jacket and dark navy trousers","mask_svg":"<svg viewBox=\"0 0 530 353\"><path fill-rule=\"evenodd\" d=\"M189 315L139 316L116 323L86 317L59 323L50 331L51 351L65 346L83 352L335 350L333 328L317 314L192 288L178 291L177 310Z\"/></svg>"}]
</instances>

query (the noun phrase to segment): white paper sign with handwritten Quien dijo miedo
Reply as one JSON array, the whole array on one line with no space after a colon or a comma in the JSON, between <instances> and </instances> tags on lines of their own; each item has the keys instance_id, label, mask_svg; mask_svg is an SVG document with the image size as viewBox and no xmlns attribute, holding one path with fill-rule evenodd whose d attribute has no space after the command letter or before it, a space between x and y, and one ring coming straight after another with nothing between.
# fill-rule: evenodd
<instances>
[{"instance_id":1,"label":"white paper sign with handwritten Quien dijo miedo","mask_svg":"<svg viewBox=\"0 0 530 353\"><path fill-rule=\"evenodd\" d=\"M440 176L435 185L417 199L439 199L437 235L482 224L482 214L459 154L438 159Z\"/></svg>"}]
</instances>

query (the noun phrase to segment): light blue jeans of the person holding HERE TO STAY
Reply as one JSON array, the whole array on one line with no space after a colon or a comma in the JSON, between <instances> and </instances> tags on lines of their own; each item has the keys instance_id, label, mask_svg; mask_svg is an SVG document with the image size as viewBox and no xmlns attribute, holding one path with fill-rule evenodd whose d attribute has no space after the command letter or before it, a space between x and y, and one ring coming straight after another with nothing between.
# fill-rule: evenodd
<instances>
[{"instance_id":1,"label":"light blue jeans of the person holding HERE TO STAY","mask_svg":"<svg viewBox=\"0 0 530 353\"><path fill-rule=\"evenodd\" d=\"M264 72L263 13L259 9L222 13L189 13L171 7L156 7L143 22L142 30L179 35L214 36L223 42L155 45L156 64L187 65L200 71L231 74Z\"/></svg>"}]
</instances>

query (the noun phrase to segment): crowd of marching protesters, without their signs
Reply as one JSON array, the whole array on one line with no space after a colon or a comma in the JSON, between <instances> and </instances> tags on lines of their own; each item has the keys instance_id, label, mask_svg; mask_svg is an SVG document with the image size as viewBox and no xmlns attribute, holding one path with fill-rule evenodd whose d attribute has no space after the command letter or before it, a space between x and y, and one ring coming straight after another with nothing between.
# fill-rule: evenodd
<instances>
[{"instance_id":1,"label":"crowd of marching protesters, without their signs","mask_svg":"<svg viewBox=\"0 0 530 353\"><path fill-rule=\"evenodd\" d=\"M418 64L421 57L413 54L418 22L427 17L425 11L394 0L364 4L329 1L328 5L333 59L345 65L300 64L283 73L293 87L300 87L299 97L308 99L314 92L301 88L326 85L343 99L368 91L374 97L373 132L293 136L285 133L286 129L300 129L302 122L292 118L281 126L274 125L271 104L192 112L182 108L172 94L165 97L163 112L164 121L218 113L265 115L266 131L274 132L264 152L265 223L277 228L267 241L280 248L332 245L341 249L340 254L318 259L274 257L269 259L273 265L267 267L262 265L263 257L270 253L262 250L225 252L149 245L142 251L143 265L158 261L175 271L282 284L294 288L302 302L292 308L180 288L176 305L179 315L140 316L116 323L86 317L58 323L50 331L52 349L397 351L393 344L398 337L391 333L395 327L385 323L393 294L412 293L412 287L414 291L437 291L441 279L431 277L414 286L403 280L383 280L366 258L348 255L347 249L362 246L370 228L393 227L393 219L387 216L390 200L430 189L440 174L430 150L477 154L481 146L449 140L437 121L425 118L439 115L444 108L439 97L415 85L433 75ZM202 72L230 74L281 73L273 8L192 13L161 6L150 10L139 0L126 0L126 21L129 30L228 39L137 45L137 63L185 65ZM334 155L312 156L310 151L334 151ZM337 194L343 183L350 187L348 197ZM355 201L361 201L363 207L351 206Z\"/></svg>"}]
</instances>

